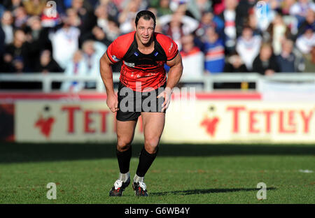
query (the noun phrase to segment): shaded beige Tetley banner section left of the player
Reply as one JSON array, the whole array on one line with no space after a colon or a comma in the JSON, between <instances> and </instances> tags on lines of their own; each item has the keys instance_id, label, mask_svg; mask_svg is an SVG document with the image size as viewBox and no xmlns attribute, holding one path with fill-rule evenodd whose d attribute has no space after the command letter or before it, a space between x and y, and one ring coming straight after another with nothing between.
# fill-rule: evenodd
<instances>
[{"instance_id":1,"label":"shaded beige Tetley banner section left of the player","mask_svg":"<svg viewBox=\"0 0 315 218\"><path fill-rule=\"evenodd\" d=\"M116 119L104 101L18 101L15 108L15 139L19 142L116 140ZM141 134L136 135L135 140L141 140Z\"/></svg>"}]
</instances>

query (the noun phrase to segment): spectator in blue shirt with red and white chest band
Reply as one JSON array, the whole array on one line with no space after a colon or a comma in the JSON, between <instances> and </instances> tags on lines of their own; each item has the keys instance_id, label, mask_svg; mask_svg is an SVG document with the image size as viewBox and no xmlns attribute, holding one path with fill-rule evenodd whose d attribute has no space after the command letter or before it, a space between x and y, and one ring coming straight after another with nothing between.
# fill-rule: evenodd
<instances>
[{"instance_id":1,"label":"spectator in blue shirt with red and white chest band","mask_svg":"<svg viewBox=\"0 0 315 218\"><path fill-rule=\"evenodd\" d=\"M222 73L225 65L224 45L214 28L207 29L207 41L204 45L206 60L204 68L207 73Z\"/></svg>"}]
</instances>

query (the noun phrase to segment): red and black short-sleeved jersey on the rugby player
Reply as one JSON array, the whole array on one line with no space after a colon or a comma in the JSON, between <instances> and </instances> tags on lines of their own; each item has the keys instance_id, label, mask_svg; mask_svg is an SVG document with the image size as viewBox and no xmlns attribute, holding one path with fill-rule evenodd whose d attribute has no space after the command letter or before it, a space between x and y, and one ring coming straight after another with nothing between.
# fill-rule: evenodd
<instances>
[{"instance_id":1,"label":"red and black short-sleeved jersey on the rugby player","mask_svg":"<svg viewBox=\"0 0 315 218\"><path fill-rule=\"evenodd\" d=\"M106 51L113 63L123 61L120 82L137 92L158 89L166 82L164 64L176 57L179 50L176 43L163 34L154 33L154 50L151 54L142 54L138 50L135 31L116 38ZM141 90L139 83L141 82ZM146 90L144 90L146 89Z\"/></svg>"}]
</instances>

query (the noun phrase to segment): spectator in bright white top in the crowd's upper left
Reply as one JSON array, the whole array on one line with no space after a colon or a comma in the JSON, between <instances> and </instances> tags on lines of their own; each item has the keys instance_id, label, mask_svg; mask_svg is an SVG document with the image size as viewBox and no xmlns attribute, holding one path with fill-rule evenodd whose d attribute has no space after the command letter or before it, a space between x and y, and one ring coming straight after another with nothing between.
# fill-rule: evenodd
<instances>
[{"instance_id":1,"label":"spectator in bright white top in the crowd's upper left","mask_svg":"<svg viewBox=\"0 0 315 218\"><path fill-rule=\"evenodd\" d=\"M71 60L74 52L78 50L78 37L80 30L71 27L69 20L66 18L61 29L49 34L52 43L52 57L62 68Z\"/></svg>"}]
</instances>

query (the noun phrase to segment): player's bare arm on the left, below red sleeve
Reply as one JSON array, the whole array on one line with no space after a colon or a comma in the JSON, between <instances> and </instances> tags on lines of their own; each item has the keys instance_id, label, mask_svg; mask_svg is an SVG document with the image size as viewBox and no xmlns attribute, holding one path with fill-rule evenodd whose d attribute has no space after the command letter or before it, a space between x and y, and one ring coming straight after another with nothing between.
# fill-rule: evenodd
<instances>
[{"instance_id":1,"label":"player's bare arm on the left, below red sleeve","mask_svg":"<svg viewBox=\"0 0 315 218\"><path fill-rule=\"evenodd\" d=\"M99 61L100 73L102 80L105 85L106 94L107 94L107 106L111 109L112 112L118 111L118 97L113 89L113 71L111 70L111 60L107 57L107 54L104 53Z\"/></svg>"}]
</instances>

